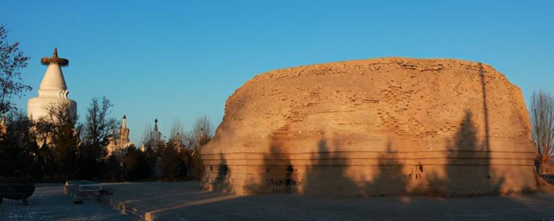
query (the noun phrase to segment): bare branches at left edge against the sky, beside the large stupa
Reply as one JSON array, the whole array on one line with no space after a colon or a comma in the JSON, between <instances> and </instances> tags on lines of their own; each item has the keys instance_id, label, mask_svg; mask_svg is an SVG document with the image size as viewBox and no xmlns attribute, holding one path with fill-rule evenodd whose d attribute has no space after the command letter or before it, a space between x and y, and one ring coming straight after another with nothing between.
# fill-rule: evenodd
<instances>
[{"instance_id":1,"label":"bare branches at left edge against the sky, beside the large stupa","mask_svg":"<svg viewBox=\"0 0 554 221\"><path fill-rule=\"evenodd\" d=\"M9 44L6 25L0 25L0 113L17 109L12 103L12 96L21 98L32 88L23 83L21 68L26 68L30 57L19 51L19 42Z\"/></svg>"}]
</instances>

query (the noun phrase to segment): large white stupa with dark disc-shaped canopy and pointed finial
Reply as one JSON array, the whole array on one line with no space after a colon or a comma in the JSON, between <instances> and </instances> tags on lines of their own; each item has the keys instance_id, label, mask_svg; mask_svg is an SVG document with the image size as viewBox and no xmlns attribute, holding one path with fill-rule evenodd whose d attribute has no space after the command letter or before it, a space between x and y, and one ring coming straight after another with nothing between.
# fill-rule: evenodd
<instances>
[{"instance_id":1,"label":"large white stupa with dark disc-shaped canopy and pointed finial","mask_svg":"<svg viewBox=\"0 0 554 221\"><path fill-rule=\"evenodd\" d=\"M39 97L29 99L27 115L30 119L40 119L48 116L46 108L51 105L68 105L72 116L77 115L77 102L68 99L69 90L65 84L63 66L69 65L68 59L57 57L57 48L54 48L53 57L43 57L41 63L46 68L44 78L39 86Z\"/></svg>"}]
</instances>

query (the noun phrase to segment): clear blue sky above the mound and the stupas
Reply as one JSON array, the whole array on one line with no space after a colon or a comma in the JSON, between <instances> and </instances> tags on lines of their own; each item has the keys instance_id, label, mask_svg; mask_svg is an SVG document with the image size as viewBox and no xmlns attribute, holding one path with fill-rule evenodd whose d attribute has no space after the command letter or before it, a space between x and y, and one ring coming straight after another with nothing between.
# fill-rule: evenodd
<instances>
[{"instance_id":1,"label":"clear blue sky above the mound and the stupas","mask_svg":"<svg viewBox=\"0 0 554 221\"><path fill-rule=\"evenodd\" d=\"M216 125L226 99L275 68L372 57L482 61L520 86L554 92L553 1L12 1L0 2L10 41L32 57L37 95L58 47L71 99L84 117L106 95L132 141L160 120Z\"/></svg>"}]
</instances>

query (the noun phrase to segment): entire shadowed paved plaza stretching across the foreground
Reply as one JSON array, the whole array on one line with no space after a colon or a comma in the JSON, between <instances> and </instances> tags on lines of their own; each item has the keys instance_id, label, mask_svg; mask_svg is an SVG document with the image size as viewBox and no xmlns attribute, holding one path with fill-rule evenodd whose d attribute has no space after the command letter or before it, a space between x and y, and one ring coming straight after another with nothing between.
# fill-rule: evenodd
<instances>
[{"instance_id":1,"label":"entire shadowed paved plaza stretching across the foreground","mask_svg":"<svg viewBox=\"0 0 554 221\"><path fill-rule=\"evenodd\" d=\"M114 195L73 204L61 184L38 184L28 206L6 200L0 220L554 220L554 195L484 198L240 196L198 182L107 184ZM112 209L113 208L113 209ZM124 213L127 213L125 215Z\"/></svg>"}]
</instances>

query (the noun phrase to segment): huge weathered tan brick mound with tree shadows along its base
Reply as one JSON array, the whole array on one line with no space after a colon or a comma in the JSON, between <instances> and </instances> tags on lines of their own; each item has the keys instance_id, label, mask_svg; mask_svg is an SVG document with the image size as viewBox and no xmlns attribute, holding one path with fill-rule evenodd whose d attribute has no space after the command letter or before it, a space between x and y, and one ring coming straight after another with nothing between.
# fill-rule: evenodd
<instances>
[{"instance_id":1,"label":"huge weathered tan brick mound with tree shadows along its base","mask_svg":"<svg viewBox=\"0 0 554 221\"><path fill-rule=\"evenodd\" d=\"M206 189L239 194L534 191L521 90L491 66L384 58L274 70L229 97Z\"/></svg>"}]
</instances>

